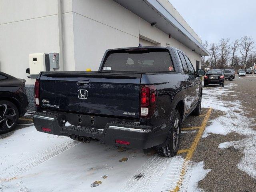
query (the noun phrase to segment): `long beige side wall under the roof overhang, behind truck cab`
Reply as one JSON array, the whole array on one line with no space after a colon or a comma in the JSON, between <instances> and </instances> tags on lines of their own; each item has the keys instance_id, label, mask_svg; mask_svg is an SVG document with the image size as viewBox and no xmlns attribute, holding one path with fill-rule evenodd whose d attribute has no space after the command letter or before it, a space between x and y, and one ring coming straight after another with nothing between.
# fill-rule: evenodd
<instances>
[{"instance_id":1,"label":"long beige side wall under the roof overhang, behind truck cab","mask_svg":"<svg viewBox=\"0 0 256 192\"><path fill-rule=\"evenodd\" d=\"M158 28L112 0L73 0L75 69L98 70L109 48L173 46L190 58L194 68L201 57ZM168 44L168 45L167 45Z\"/></svg>"}]
</instances>

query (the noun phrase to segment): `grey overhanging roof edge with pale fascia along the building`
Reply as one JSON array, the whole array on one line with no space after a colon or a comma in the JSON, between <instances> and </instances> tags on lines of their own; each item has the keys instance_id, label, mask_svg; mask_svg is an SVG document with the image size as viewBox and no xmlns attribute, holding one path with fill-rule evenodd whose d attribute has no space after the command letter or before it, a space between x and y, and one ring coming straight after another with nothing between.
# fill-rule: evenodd
<instances>
[{"instance_id":1,"label":"grey overhanging roof edge with pale fascia along the building","mask_svg":"<svg viewBox=\"0 0 256 192\"><path fill-rule=\"evenodd\" d=\"M114 0L202 56L209 52L158 0Z\"/></svg>"}]
</instances>

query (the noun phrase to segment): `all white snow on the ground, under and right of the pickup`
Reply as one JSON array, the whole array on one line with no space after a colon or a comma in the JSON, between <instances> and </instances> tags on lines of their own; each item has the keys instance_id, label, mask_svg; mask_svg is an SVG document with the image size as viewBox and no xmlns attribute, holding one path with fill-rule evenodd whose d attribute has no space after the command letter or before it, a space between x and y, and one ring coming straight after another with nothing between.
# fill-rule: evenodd
<instances>
[{"instance_id":1,"label":"all white snow on the ground, under and right of the pickup","mask_svg":"<svg viewBox=\"0 0 256 192\"><path fill-rule=\"evenodd\" d=\"M222 143L219 148L234 146L242 151L244 157L238 168L256 178L255 161L251 160L255 159L256 150L256 132L250 128L252 119L245 118L239 100L227 103L221 98L235 94L234 86L204 89L202 107L220 110L224 115L210 120L202 137L230 132L246 136L244 140ZM238 125L239 121L243 125ZM196 130L183 133L196 134ZM211 170L204 168L204 162L183 157L163 158L153 148L134 150L94 140L81 143L37 132L33 125L19 125L0 139L0 192L164 192L177 186L182 172L180 191L202 191L198 182Z\"/></svg>"}]
</instances>

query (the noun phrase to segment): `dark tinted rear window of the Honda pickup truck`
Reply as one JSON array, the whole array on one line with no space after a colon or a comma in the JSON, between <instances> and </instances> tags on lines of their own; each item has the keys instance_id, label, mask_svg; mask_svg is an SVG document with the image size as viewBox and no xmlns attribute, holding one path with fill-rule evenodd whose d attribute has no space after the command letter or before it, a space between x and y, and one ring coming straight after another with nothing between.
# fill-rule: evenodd
<instances>
[{"instance_id":1,"label":"dark tinted rear window of the Honda pickup truck","mask_svg":"<svg viewBox=\"0 0 256 192\"><path fill-rule=\"evenodd\" d=\"M168 50L118 50L106 55L102 71L174 72Z\"/></svg>"}]
</instances>

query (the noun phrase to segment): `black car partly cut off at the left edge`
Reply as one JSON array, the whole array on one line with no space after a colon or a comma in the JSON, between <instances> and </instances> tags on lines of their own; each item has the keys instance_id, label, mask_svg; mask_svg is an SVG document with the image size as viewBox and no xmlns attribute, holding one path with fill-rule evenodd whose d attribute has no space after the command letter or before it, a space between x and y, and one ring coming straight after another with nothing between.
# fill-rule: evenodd
<instances>
[{"instance_id":1,"label":"black car partly cut off at the left edge","mask_svg":"<svg viewBox=\"0 0 256 192\"><path fill-rule=\"evenodd\" d=\"M13 130L28 110L25 82L0 72L0 134Z\"/></svg>"}]
</instances>

